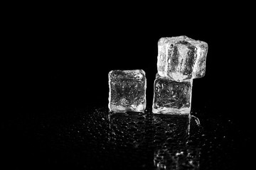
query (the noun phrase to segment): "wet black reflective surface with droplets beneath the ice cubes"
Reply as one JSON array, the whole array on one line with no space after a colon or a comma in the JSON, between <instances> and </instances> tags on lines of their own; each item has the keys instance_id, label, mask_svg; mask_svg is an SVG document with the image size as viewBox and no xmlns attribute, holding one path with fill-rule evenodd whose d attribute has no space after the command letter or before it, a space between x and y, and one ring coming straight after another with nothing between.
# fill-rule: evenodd
<instances>
[{"instance_id":1,"label":"wet black reflective surface with droplets beneath the ice cubes","mask_svg":"<svg viewBox=\"0 0 256 170\"><path fill-rule=\"evenodd\" d=\"M251 137L223 115L110 114L107 107L4 123L10 169L246 169ZM246 162L247 161L247 162Z\"/></svg>"}]
</instances>

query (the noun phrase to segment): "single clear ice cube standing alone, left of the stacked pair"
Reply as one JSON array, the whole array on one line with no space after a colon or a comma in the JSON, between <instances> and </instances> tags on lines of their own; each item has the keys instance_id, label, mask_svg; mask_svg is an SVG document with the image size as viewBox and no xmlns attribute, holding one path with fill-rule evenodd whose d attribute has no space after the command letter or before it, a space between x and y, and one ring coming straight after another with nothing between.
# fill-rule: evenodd
<instances>
[{"instance_id":1,"label":"single clear ice cube standing alone, left of the stacked pair","mask_svg":"<svg viewBox=\"0 0 256 170\"><path fill-rule=\"evenodd\" d=\"M112 70L109 74L110 111L144 112L146 108L146 76L142 69Z\"/></svg>"}]
</instances>

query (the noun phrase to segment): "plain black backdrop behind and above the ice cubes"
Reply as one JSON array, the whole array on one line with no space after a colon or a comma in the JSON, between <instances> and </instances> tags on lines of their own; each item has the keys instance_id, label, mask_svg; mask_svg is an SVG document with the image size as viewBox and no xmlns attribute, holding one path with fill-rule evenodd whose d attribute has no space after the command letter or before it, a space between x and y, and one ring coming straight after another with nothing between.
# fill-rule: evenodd
<instances>
[{"instance_id":1,"label":"plain black backdrop behind and above the ice cubes","mask_svg":"<svg viewBox=\"0 0 256 170\"><path fill-rule=\"evenodd\" d=\"M5 75L10 102L2 117L6 143L19 137L7 130L11 121L55 108L107 107L107 74L112 69L144 69L146 105L151 107L157 42L179 35L208 43L206 76L193 81L192 111L229 115L250 135L253 114L247 109L252 106L245 96L253 89L246 76L247 58L252 57L247 49L252 36L249 13L231 7L197 13L183 9L181 15L90 8L57 6L9 14Z\"/></svg>"}]
</instances>

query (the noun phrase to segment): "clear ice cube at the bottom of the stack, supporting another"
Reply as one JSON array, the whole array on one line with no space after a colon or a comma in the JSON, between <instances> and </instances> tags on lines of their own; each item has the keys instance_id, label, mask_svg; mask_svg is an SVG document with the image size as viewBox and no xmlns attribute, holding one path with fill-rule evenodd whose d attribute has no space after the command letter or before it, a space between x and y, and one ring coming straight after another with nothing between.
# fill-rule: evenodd
<instances>
[{"instance_id":1,"label":"clear ice cube at the bottom of the stack, supporting another","mask_svg":"<svg viewBox=\"0 0 256 170\"><path fill-rule=\"evenodd\" d=\"M188 114L191 111L193 79L173 81L156 74L153 113Z\"/></svg>"}]
</instances>

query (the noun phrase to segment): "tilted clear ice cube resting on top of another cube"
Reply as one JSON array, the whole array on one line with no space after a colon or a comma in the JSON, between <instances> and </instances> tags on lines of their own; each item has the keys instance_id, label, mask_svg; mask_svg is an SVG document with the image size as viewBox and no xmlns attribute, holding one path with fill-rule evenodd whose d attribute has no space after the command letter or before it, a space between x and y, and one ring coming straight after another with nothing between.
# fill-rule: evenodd
<instances>
[{"instance_id":1,"label":"tilted clear ice cube resting on top of another cube","mask_svg":"<svg viewBox=\"0 0 256 170\"><path fill-rule=\"evenodd\" d=\"M208 44L186 36L160 38L157 71L161 77L185 81L204 77Z\"/></svg>"}]
</instances>

